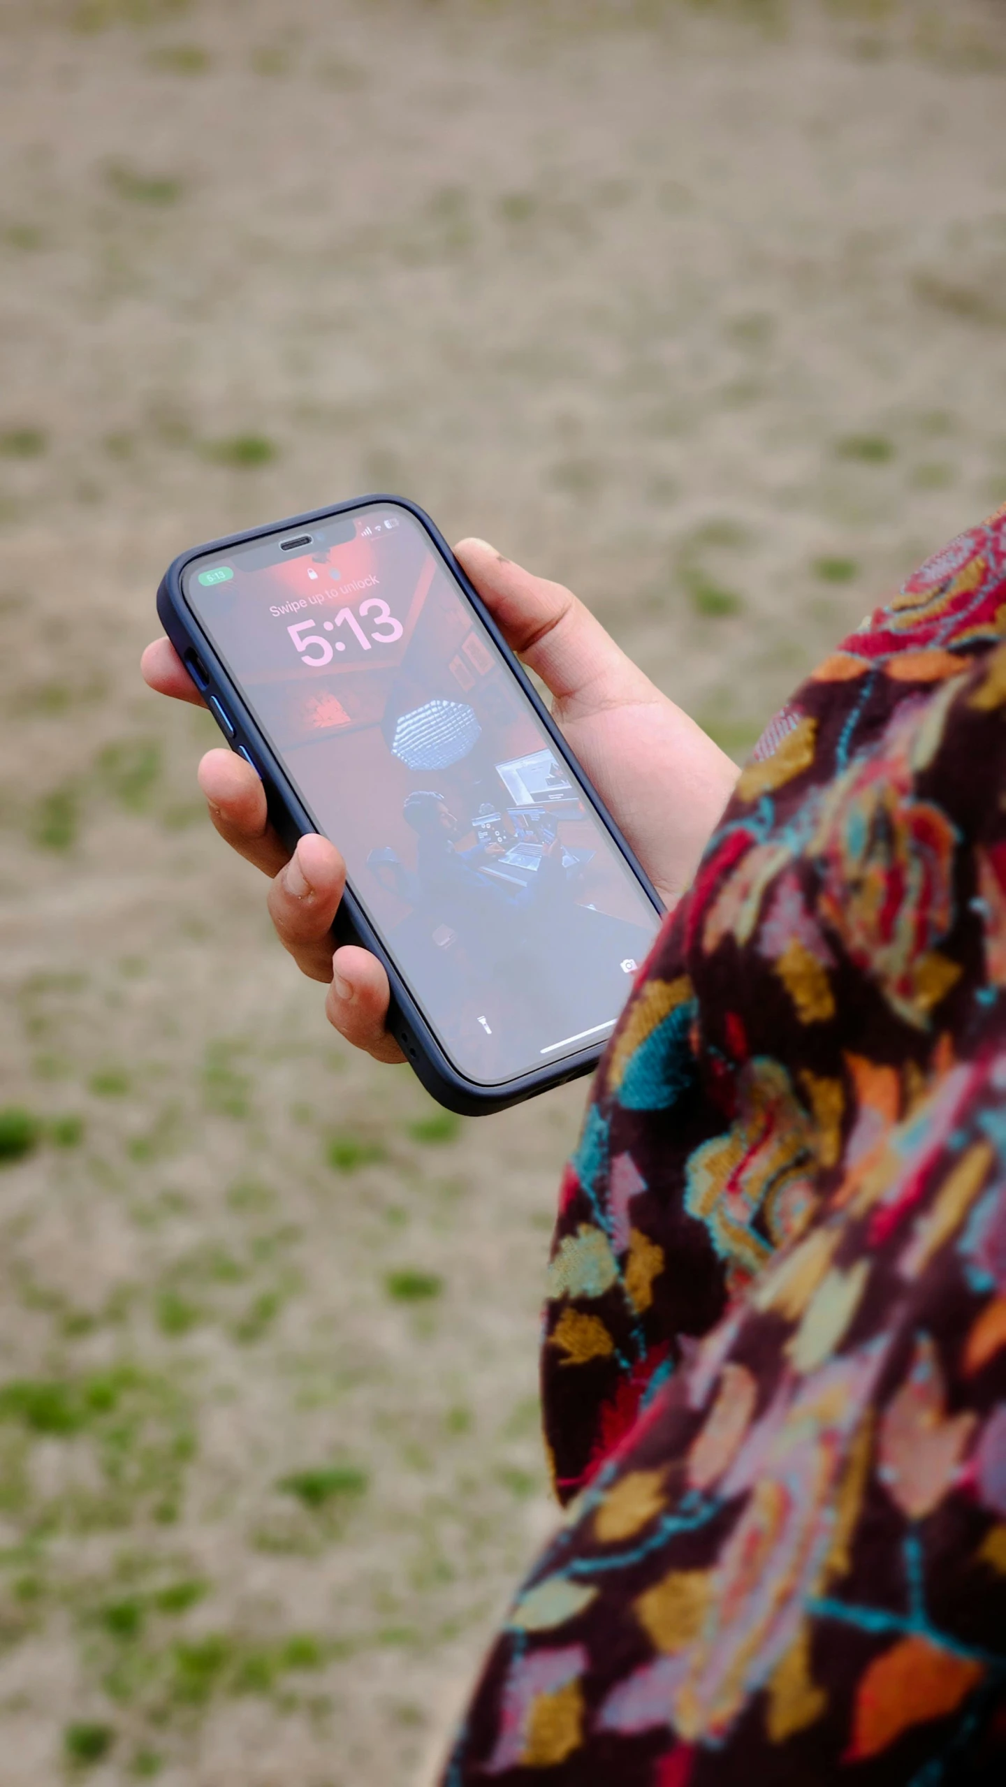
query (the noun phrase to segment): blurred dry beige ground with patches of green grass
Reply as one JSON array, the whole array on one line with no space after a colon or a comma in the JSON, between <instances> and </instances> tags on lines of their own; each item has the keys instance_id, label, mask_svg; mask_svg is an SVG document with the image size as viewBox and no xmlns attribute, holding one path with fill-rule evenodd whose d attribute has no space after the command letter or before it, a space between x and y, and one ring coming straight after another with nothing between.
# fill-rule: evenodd
<instances>
[{"instance_id":1,"label":"blurred dry beige ground with patches of green grass","mask_svg":"<svg viewBox=\"0 0 1006 1787\"><path fill-rule=\"evenodd\" d=\"M552 1519L583 1088L350 1060L157 577L398 490L743 752L1006 497L1006 9L2 0L0 80L0 1783L407 1783Z\"/></svg>"}]
</instances>

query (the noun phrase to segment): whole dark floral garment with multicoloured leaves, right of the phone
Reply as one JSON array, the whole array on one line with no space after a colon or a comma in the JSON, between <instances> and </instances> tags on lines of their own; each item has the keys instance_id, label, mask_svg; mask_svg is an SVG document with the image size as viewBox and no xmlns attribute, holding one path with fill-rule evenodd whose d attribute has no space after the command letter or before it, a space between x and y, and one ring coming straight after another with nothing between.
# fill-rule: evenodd
<instances>
[{"instance_id":1,"label":"whole dark floral garment with multicoloured leaves, right of the phone","mask_svg":"<svg viewBox=\"0 0 1006 1787\"><path fill-rule=\"evenodd\" d=\"M597 1074L447 1787L1006 1782L1006 511L772 720Z\"/></svg>"}]
</instances>

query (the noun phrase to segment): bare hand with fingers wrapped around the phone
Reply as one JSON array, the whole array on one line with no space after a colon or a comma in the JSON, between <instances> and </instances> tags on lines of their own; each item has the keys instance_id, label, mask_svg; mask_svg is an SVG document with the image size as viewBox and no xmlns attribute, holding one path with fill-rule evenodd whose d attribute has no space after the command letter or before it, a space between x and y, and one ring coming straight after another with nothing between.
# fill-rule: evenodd
<instances>
[{"instance_id":1,"label":"bare hand with fingers wrapped around the phone","mask_svg":"<svg viewBox=\"0 0 1006 1787\"><path fill-rule=\"evenodd\" d=\"M463 540L454 550L507 645L550 690L570 749L670 904L692 879L736 765L661 695L575 595L532 577L484 540ZM150 688L204 706L168 640L147 647L141 668ZM375 1060L404 1060L384 1028L390 988L377 958L352 944L332 956L345 886L336 845L309 835L289 856L268 822L259 777L232 751L207 751L198 781L220 836L272 876L270 917L300 970L329 986L329 1022Z\"/></svg>"}]
</instances>

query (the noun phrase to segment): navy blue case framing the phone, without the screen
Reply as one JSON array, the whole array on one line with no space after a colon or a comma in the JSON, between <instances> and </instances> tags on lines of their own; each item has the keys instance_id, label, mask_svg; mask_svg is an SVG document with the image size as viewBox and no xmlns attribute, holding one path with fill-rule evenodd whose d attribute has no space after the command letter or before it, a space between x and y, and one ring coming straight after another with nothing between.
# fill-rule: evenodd
<instances>
[{"instance_id":1,"label":"navy blue case framing the phone, without the screen","mask_svg":"<svg viewBox=\"0 0 1006 1787\"><path fill-rule=\"evenodd\" d=\"M606 811L600 797L595 793L588 783L581 765L572 756L563 734L552 720L552 715L545 704L538 699L538 693L527 677L524 667L509 650L506 640L502 638L493 617L488 613L479 595L468 583L461 565L454 558L450 547L438 533L429 515L423 513L415 502L406 497L354 497L350 502L336 502L327 509L313 509L309 515L291 515L284 522L270 522L266 527L252 527L241 534L229 534L223 540L211 540L205 545L191 547L188 552L180 552L177 559L168 566L157 590L157 615L161 625L168 634L172 645L175 647L179 658L189 670L193 683L200 688L205 697L216 724L220 726L225 742L232 751L247 754L259 770L266 799L270 818L284 840L284 843L293 849L297 840L307 831L314 831L311 818L297 793L289 786L282 765L270 751L270 745L263 738L254 717L248 713L241 690L227 674L223 663L216 656L211 640L202 631L197 617L189 609L182 595L182 572L186 565L193 559L202 558L207 552L222 552L229 547L245 545L248 540L261 540L266 534L289 533L295 527L309 527L311 524L329 520L332 515L345 515L350 509L361 509L372 502L393 502L400 509L407 509L409 515L420 522L425 533L431 536L432 545L445 559L449 570L461 584L465 597L475 609L479 620L488 629L495 640L499 650L502 652L509 670L520 683L527 701L534 708L534 713L541 720L549 738L552 740L563 763L568 767L574 781L583 790L583 795L590 808L597 813L599 820L611 835L618 851L633 868L640 886L650 899L656 913L663 913L659 895L643 874L640 863L633 856L633 851L625 843L622 833L618 831L615 820ZM193 663L195 658L195 663ZM202 667L202 668L200 668ZM205 686L204 686L205 684ZM234 731L229 733L220 709L232 722ZM406 1060L415 1069L416 1076L427 1088L427 1092L447 1110L457 1112L461 1117L484 1117L491 1112L506 1110L509 1104L518 1104L522 1099L531 1099L538 1092L547 1092L550 1086L561 1086L568 1079L577 1079L581 1074L591 1072L591 1069L600 1060L604 1044L593 1044L588 1049L581 1049L574 1056L566 1056L565 1061L557 1061L550 1067L540 1067L531 1074L522 1074L518 1079L509 1079L502 1085L481 1085L475 1079L466 1079L457 1069L449 1061L443 1047L431 1029L423 1011L409 994L409 988L402 981L393 958L388 954L384 944L375 936L366 913L363 911L356 894L347 885L343 902L340 906L332 935L338 944L363 944L370 949L379 961L384 963L388 970L388 979L391 983L391 1008L388 1013L388 1029L402 1047Z\"/></svg>"}]
</instances>

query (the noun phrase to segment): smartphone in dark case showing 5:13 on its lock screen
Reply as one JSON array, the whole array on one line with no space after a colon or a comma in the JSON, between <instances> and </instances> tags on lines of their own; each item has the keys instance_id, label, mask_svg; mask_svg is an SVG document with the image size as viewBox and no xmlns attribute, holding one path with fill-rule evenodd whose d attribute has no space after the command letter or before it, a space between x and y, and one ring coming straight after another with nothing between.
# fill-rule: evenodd
<instances>
[{"instance_id":1,"label":"smartphone in dark case showing 5:13 on its lock screen","mask_svg":"<svg viewBox=\"0 0 1006 1787\"><path fill-rule=\"evenodd\" d=\"M157 613L293 847L347 861L336 942L449 1110L588 1072L661 902L434 524L361 497L182 552Z\"/></svg>"}]
</instances>

